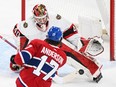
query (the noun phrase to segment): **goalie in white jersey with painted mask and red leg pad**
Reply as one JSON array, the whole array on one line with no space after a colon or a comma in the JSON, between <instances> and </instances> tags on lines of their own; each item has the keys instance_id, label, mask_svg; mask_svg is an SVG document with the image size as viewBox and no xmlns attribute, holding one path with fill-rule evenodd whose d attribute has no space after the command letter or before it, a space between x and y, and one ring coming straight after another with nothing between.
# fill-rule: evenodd
<instances>
[{"instance_id":1,"label":"goalie in white jersey with painted mask and red leg pad","mask_svg":"<svg viewBox=\"0 0 116 87\"><path fill-rule=\"evenodd\" d=\"M15 25L13 32L14 32L14 35L16 36L17 48L19 50L22 50L28 44L28 42L30 42L31 40L35 38L44 40L46 37L46 32L48 31L48 28L51 27L52 25L61 27L63 31L63 38L66 39L66 41L68 41L69 43L73 44L74 46L73 51L79 50L77 48L78 48L78 42L80 41L81 37L78 35L76 26L68 22L64 18L61 18L61 16L59 15L57 16L48 15L47 9L43 4L34 6L33 17ZM97 39L93 38L89 40L81 39L81 41L83 42L83 45L84 45L80 49L80 52L82 54L80 52L76 53L76 55L75 55L75 52L74 54L70 54L70 55L67 54L68 56L73 57L74 61L76 58L76 61L75 61L76 65L73 62L71 62L70 64L73 65L74 67L76 66L76 68L77 66L81 65L84 68L87 68L90 71L90 74L92 76L97 77L100 74L99 69L101 68L101 66L99 66L99 63L96 61L96 59L93 60L93 58L91 57L88 58L88 54L89 56L100 54L103 51L101 42L99 42L98 38ZM64 48L65 47L63 47L62 50L64 50L65 52L67 51L71 52L70 49L64 49ZM85 60L83 61L82 58L84 58ZM91 67L91 66L94 66L94 67ZM10 64L10 67L12 70L17 70L19 68L12 64ZM96 72L98 73L96 74Z\"/></svg>"}]
</instances>

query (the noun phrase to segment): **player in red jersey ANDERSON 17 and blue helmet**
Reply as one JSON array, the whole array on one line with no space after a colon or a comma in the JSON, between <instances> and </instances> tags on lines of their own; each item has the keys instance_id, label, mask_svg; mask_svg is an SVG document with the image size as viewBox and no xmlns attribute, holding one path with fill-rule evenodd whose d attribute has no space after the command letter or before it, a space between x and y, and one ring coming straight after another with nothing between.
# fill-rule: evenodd
<instances>
[{"instance_id":1,"label":"player in red jersey ANDERSON 17 and blue helmet","mask_svg":"<svg viewBox=\"0 0 116 87\"><path fill-rule=\"evenodd\" d=\"M58 47L62 32L52 27L45 41L34 39L18 52L12 63L24 68L16 80L17 87L50 87L57 70L66 63L66 54Z\"/></svg>"}]
</instances>

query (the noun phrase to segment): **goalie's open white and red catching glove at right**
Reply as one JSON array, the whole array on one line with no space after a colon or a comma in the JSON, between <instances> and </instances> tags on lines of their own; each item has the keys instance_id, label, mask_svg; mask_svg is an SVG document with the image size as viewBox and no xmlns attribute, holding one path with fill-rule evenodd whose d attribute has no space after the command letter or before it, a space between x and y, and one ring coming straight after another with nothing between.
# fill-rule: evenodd
<instances>
[{"instance_id":1,"label":"goalie's open white and red catching glove at right","mask_svg":"<svg viewBox=\"0 0 116 87\"><path fill-rule=\"evenodd\" d=\"M104 51L103 40L100 37L88 38L86 44L79 50L81 53L90 56L97 56Z\"/></svg>"}]
</instances>

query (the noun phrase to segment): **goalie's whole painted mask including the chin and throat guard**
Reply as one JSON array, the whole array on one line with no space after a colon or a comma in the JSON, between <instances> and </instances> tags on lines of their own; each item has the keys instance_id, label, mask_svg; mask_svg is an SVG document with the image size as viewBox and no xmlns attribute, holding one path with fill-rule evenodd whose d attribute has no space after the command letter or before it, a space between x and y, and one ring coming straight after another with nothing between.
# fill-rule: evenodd
<instances>
[{"instance_id":1,"label":"goalie's whole painted mask including the chin and throat guard","mask_svg":"<svg viewBox=\"0 0 116 87\"><path fill-rule=\"evenodd\" d=\"M33 17L36 27L41 31L46 31L48 27L49 17L46 6L43 4L35 5L33 8Z\"/></svg>"}]
</instances>

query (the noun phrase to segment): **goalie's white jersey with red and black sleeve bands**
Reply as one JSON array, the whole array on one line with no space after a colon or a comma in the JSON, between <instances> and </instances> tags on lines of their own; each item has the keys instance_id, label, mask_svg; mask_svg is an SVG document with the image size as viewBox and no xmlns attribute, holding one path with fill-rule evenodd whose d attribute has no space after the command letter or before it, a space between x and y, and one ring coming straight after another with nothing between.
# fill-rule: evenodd
<instances>
[{"instance_id":1,"label":"goalie's white jersey with red and black sleeve bands","mask_svg":"<svg viewBox=\"0 0 116 87\"><path fill-rule=\"evenodd\" d=\"M49 21L46 25L40 26L41 28L46 28L45 32L43 32L41 28L38 28L33 17L15 25L13 33L16 37L15 41L17 48L22 50L33 39L38 38L44 40L46 38L46 33L51 26L60 27L64 32L63 37L77 47L80 37L75 25L64 18L61 18L61 16L59 17L59 15L49 15Z\"/></svg>"}]
</instances>

